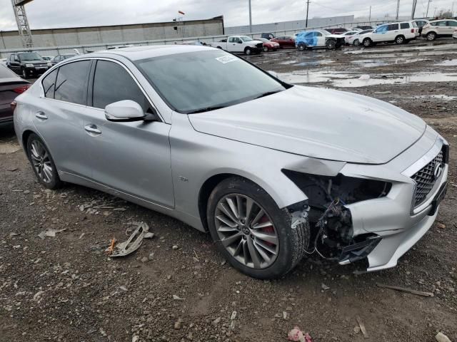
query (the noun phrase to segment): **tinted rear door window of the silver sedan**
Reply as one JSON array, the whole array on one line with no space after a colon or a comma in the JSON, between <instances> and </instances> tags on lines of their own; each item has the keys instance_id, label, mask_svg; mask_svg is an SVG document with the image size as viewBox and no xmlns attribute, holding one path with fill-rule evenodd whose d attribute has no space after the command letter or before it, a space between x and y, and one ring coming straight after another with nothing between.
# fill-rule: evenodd
<instances>
[{"instance_id":1,"label":"tinted rear door window of the silver sedan","mask_svg":"<svg viewBox=\"0 0 457 342\"><path fill-rule=\"evenodd\" d=\"M86 105L90 66L91 61L77 61L61 66L57 73L54 98Z\"/></svg>"}]
</instances>

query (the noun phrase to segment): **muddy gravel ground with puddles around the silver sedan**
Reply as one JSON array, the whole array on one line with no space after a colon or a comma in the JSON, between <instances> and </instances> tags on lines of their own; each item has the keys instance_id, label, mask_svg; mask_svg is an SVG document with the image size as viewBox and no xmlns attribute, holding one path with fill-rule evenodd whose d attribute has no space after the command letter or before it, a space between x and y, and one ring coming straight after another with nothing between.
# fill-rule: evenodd
<instances>
[{"instance_id":1,"label":"muddy gravel ground with puddles around the silver sedan","mask_svg":"<svg viewBox=\"0 0 457 342\"><path fill-rule=\"evenodd\" d=\"M186 224L84 187L44 190L11 125L0 128L0 341L286 341L293 326L313 341L435 341L438 331L457 341L456 58L450 40L250 57L294 83L395 103L450 142L436 224L395 269L371 274L311 256L284 279L251 279ZM109 259L109 240L126 239L131 222L155 237ZM65 230L41 239L44 229Z\"/></svg>"}]
</instances>

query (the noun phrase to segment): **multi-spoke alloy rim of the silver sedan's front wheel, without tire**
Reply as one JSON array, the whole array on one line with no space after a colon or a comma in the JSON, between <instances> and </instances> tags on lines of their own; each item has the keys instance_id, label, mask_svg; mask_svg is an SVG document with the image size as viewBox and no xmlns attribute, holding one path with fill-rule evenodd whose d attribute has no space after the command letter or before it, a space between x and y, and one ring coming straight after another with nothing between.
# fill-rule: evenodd
<instances>
[{"instance_id":1,"label":"multi-spoke alloy rim of the silver sedan's front wheel, without tire","mask_svg":"<svg viewBox=\"0 0 457 342\"><path fill-rule=\"evenodd\" d=\"M238 262L253 269L265 269L274 263L279 252L276 227L265 209L251 197L222 197L214 220L222 245Z\"/></svg>"}]
</instances>

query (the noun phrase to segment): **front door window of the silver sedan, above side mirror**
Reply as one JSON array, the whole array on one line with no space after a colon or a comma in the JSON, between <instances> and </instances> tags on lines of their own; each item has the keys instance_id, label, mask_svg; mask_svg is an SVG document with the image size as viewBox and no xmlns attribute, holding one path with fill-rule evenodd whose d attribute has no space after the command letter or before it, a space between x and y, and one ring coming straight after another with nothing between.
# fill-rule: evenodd
<instances>
[{"instance_id":1,"label":"front door window of the silver sedan, above side mirror","mask_svg":"<svg viewBox=\"0 0 457 342\"><path fill-rule=\"evenodd\" d=\"M110 61L97 62L92 98L95 108L105 108L106 105L122 100L133 100L141 105L145 113L152 112L149 101L132 76L118 63Z\"/></svg>"}]
</instances>

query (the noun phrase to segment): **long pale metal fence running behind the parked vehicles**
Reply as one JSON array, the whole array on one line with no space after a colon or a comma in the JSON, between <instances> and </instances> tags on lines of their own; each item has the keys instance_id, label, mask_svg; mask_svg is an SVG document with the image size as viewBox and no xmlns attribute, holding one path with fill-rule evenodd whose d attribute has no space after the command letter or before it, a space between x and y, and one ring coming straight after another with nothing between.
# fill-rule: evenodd
<instances>
[{"instance_id":1,"label":"long pale metal fence running behind the parked vehicles","mask_svg":"<svg viewBox=\"0 0 457 342\"><path fill-rule=\"evenodd\" d=\"M293 30L286 30L286 31L271 31L268 33L273 33L275 36L293 36L293 34L306 31L306 30L313 30L319 28L337 28L337 27L344 27L344 28L351 28L354 26L359 25L371 25L376 26L378 24L384 24L391 21L358 21L353 23L342 23L342 24L333 24L331 26L314 26L308 28L296 28ZM259 38L263 32L253 32L248 33L248 36L252 36L253 38ZM134 45L134 46L149 46L149 45L173 45L173 44L182 44L182 43L210 43L213 41L219 41L223 38L227 38L227 35L219 35L219 36L200 36L200 37L186 37L186 38L176 38L176 39L155 39L149 41L119 41L117 43L104 43L104 44L86 44L86 45L75 45L75 46L45 46L45 47L34 47L32 49L24 48L24 49L3 49L0 50L0 58L7 58L9 54L16 53L16 52L24 52L24 51L36 51L41 56L56 56L63 53L74 53L74 49L76 48L81 53L89 53L94 51L101 51L106 50L112 46L122 46L122 45Z\"/></svg>"}]
</instances>

